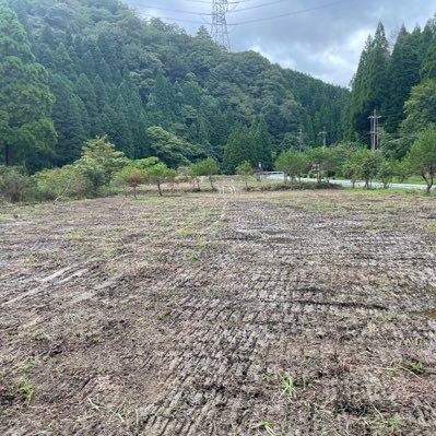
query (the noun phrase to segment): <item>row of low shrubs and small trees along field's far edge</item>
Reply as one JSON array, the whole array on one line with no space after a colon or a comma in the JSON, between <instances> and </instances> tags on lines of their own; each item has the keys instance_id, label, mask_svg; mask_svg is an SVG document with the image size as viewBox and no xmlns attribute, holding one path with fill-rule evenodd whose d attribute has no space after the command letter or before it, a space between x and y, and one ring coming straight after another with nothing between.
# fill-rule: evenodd
<instances>
[{"instance_id":1,"label":"row of low shrubs and small trees along field's far edge","mask_svg":"<svg viewBox=\"0 0 436 436\"><path fill-rule=\"evenodd\" d=\"M252 134L252 133L251 133ZM260 135L256 130L254 137ZM287 150L280 153L274 168L283 172L284 182L291 189L302 177L316 178L318 184L330 181L331 177L350 178L353 185L364 180L370 188L378 179L388 188L393 178L405 179L420 174L427 192L436 178L436 126L423 130L406 157L396 161L384 156L380 151L370 151L356 143L341 143L331 148L315 148L306 152ZM0 166L0 195L9 201L55 200L63 198L90 198L105 192L109 186L129 186L137 198L137 189L144 184L156 185L160 196L164 184L192 182L192 189L200 190L200 179L207 177L215 190L214 176L222 174L219 163L207 157L196 163L187 163L176 168L169 167L156 156L130 160L116 150L106 137L89 140L82 148L81 156L72 164L43 169L28 176L23 168ZM261 173L261 168L246 160L236 165L231 174L248 178Z\"/></svg>"}]
</instances>

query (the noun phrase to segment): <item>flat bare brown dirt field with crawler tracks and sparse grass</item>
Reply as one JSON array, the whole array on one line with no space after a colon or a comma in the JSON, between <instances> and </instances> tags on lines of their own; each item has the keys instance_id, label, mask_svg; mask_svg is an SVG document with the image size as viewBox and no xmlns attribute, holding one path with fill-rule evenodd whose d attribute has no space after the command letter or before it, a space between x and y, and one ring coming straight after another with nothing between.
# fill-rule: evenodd
<instances>
[{"instance_id":1,"label":"flat bare brown dirt field with crawler tracks and sparse grass","mask_svg":"<svg viewBox=\"0 0 436 436\"><path fill-rule=\"evenodd\" d=\"M436 435L435 198L0 208L1 435Z\"/></svg>"}]
</instances>

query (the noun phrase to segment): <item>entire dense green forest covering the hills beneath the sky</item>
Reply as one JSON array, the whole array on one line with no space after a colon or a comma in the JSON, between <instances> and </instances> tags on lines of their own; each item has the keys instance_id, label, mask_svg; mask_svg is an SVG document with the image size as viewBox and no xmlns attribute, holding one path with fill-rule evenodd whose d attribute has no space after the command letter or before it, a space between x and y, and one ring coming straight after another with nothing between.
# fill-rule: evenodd
<instances>
[{"instance_id":1,"label":"entire dense green forest covering the hills beneath the sky","mask_svg":"<svg viewBox=\"0 0 436 436\"><path fill-rule=\"evenodd\" d=\"M271 169L283 151L379 143L404 157L436 122L436 19L369 36L351 90L228 52L204 27L143 20L118 0L0 0L0 164L61 166L106 135L170 167L210 156Z\"/></svg>"}]
</instances>

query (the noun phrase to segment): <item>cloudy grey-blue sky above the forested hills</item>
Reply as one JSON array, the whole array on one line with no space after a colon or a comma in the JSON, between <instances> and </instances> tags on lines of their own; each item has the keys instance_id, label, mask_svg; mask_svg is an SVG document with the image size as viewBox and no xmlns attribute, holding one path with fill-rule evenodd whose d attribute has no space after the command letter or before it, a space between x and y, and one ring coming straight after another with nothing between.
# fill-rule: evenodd
<instances>
[{"instance_id":1,"label":"cloudy grey-blue sky above the forested hills","mask_svg":"<svg viewBox=\"0 0 436 436\"><path fill-rule=\"evenodd\" d=\"M212 0L125 0L142 15L161 16L196 33L197 23L210 23ZM409 30L424 26L436 13L433 0L228 0L232 51L256 50L272 62L309 73L327 82L347 86L369 34L378 21L394 40L402 23ZM270 4L268 4L270 3ZM337 4L332 4L337 3ZM264 7L259 7L267 4ZM303 10L328 5L322 9ZM254 8L259 7L259 8ZM165 8L168 11L157 9ZM190 13L182 13L182 11ZM301 12L291 16L238 24L252 20ZM170 17L170 19L165 19ZM210 25L207 24L208 30Z\"/></svg>"}]
</instances>

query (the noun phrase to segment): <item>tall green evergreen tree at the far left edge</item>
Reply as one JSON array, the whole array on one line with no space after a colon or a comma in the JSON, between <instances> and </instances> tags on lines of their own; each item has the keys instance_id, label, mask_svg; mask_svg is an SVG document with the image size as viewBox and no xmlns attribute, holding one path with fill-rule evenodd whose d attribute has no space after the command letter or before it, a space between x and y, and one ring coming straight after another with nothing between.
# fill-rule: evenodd
<instances>
[{"instance_id":1,"label":"tall green evergreen tree at the far left edge","mask_svg":"<svg viewBox=\"0 0 436 436\"><path fill-rule=\"evenodd\" d=\"M4 163L36 168L56 144L50 119L54 96L47 71L35 61L27 35L4 0L0 0L0 149Z\"/></svg>"}]
</instances>

